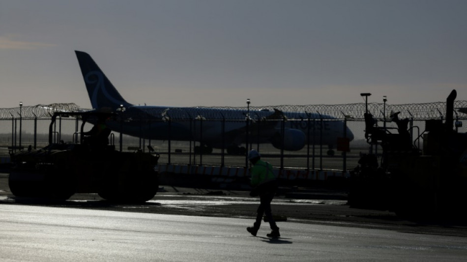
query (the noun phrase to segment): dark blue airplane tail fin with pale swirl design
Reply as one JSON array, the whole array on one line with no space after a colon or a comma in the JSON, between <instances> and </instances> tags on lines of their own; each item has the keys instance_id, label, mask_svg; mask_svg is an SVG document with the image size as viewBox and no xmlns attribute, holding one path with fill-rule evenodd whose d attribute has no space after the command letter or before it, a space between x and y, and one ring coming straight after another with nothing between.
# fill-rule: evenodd
<instances>
[{"instance_id":1,"label":"dark blue airplane tail fin with pale swirl design","mask_svg":"<svg viewBox=\"0 0 467 262\"><path fill-rule=\"evenodd\" d=\"M81 73L88 89L92 108L111 108L112 110L116 110L120 105L124 107L131 106L118 93L117 89L110 83L109 79L91 56L81 51L75 51L75 53L80 63Z\"/></svg>"}]
</instances>

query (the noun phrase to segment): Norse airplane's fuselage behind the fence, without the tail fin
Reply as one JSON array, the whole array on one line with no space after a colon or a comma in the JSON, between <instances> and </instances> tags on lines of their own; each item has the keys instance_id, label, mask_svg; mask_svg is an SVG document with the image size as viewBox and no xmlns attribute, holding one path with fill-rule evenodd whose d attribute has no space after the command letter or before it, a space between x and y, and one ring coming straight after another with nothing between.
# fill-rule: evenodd
<instances>
[{"instance_id":1,"label":"Norse airplane's fuselage behind the fence, without the tail fin","mask_svg":"<svg viewBox=\"0 0 467 262\"><path fill-rule=\"evenodd\" d=\"M247 124L248 113L250 113L250 121ZM223 118L215 117L215 114ZM240 145L247 140L250 143L271 143L275 135L282 134L286 130L295 130L295 134L286 139L289 144L295 141L297 145L290 145L295 150L301 149L307 143L332 147L337 143L338 137L344 137L344 130L346 130L345 136L350 140L353 139L350 129L345 128L342 121L330 117L321 120L318 118L319 115L308 116L287 112L283 114L285 117L282 119L264 119L271 115L270 111L131 106L125 109L121 117L109 121L108 126L114 132L135 137L150 140L195 141L214 148ZM262 122L266 122L265 124L269 124L272 128L264 128ZM303 136L304 140L293 140L297 134Z\"/></svg>"}]
</instances>

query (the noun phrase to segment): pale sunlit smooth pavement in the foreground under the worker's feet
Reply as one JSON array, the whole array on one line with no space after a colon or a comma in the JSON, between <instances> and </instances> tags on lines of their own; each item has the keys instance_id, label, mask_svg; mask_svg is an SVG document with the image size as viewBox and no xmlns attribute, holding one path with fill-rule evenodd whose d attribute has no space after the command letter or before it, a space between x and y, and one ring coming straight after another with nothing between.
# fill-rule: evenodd
<instances>
[{"instance_id":1,"label":"pale sunlit smooth pavement in the foreground under the worker's feet","mask_svg":"<svg viewBox=\"0 0 467 262\"><path fill-rule=\"evenodd\" d=\"M465 261L467 238L282 222L0 204L1 261Z\"/></svg>"}]
</instances>

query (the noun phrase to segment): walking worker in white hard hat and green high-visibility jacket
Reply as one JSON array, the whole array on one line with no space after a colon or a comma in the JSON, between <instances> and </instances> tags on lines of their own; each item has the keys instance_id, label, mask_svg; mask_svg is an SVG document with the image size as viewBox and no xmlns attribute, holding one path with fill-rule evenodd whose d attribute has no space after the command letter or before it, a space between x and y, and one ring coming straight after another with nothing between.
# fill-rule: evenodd
<instances>
[{"instance_id":1,"label":"walking worker in white hard hat and green high-visibility jacket","mask_svg":"<svg viewBox=\"0 0 467 262\"><path fill-rule=\"evenodd\" d=\"M261 160L260 153L254 149L248 153L248 160L250 160L252 164L250 173L251 186L253 187L253 190L251 191L250 196L260 196L260 206L257 210L256 222L253 227L248 227L246 230L256 236L256 233L258 233L261 226L263 214L265 214L272 230L271 233L266 234L266 236L277 238L281 236L281 234L279 233L279 228L272 217L271 211L271 201L277 190L277 180L272 172L272 165Z\"/></svg>"}]
</instances>

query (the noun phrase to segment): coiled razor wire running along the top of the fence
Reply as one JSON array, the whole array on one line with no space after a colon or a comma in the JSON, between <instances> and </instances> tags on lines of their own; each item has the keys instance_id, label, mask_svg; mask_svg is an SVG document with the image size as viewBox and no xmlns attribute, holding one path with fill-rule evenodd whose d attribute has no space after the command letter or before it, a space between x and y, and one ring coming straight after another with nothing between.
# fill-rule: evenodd
<instances>
[{"instance_id":1,"label":"coiled razor wire running along the top of the fence","mask_svg":"<svg viewBox=\"0 0 467 262\"><path fill-rule=\"evenodd\" d=\"M344 119L345 117L354 119L363 119L367 106L365 103L355 104L340 104L340 105L279 105L279 106L263 106L249 107L250 115L254 118L255 112L270 111L274 109L284 113L305 113L305 114L320 114L325 118L334 117ZM454 101L455 117L466 119L467 114L458 113L460 108L467 108L466 100ZM192 119L199 116L199 109L211 109L209 115L203 115L206 119L244 119L242 113L247 110L247 107L168 107L167 109L158 108L162 114L168 113L172 119ZM50 118L54 112L80 112L91 109L81 108L74 103L55 103L49 105L22 106L15 108L0 108L0 119L12 118ZM234 110L234 111L231 111ZM235 112L236 111L236 112ZM141 114L151 112L149 107L141 111ZM368 112L377 118L388 118L392 113L400 112L399 118L411 118L413 120L427 120L434 118L444 118L446 115L446 103L422 103L422 104L401 104L390 105L384 103L368 103ZM293 116L293 115L292 115ZM297 116L298 117L298 116Z\"/></svg>"}]
</instances>

